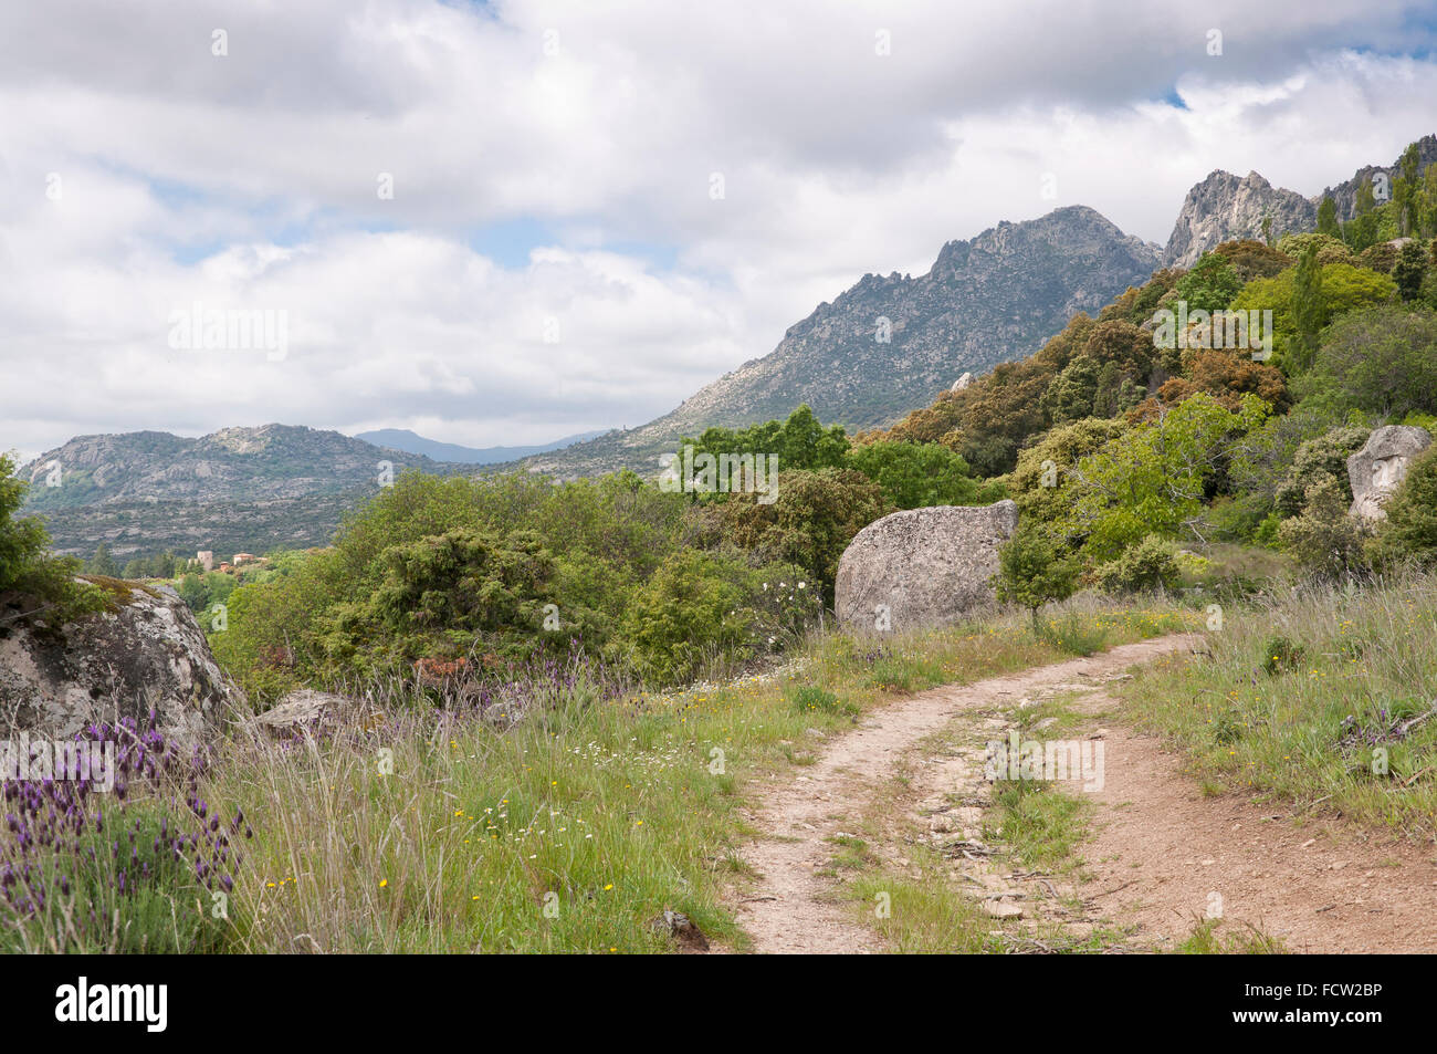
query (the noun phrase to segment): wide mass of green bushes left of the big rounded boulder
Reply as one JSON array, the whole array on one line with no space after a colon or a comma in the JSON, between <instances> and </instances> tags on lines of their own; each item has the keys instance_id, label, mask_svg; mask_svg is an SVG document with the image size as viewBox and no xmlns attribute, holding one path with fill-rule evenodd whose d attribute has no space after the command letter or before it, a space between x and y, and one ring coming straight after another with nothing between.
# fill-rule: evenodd
<instances>
[{"instance_id":1,"label":"wide mass of green bushes left of the big rounded boulder","mask_svg":"<svg viewBox=\"0 0 1437 1054\"><path fill-rule=\"evenodd\" d=\"M634 473L572 483L405 473L333 548L277 555L273 578L236 588L211 646L260 699L418 660L507 669L570 638L674 683L744 661L770 637L775 649L790 643L795 611L821 615L821 577L793 561L764 565L793 552L832 572L865 516L890 510L852 470L785 473L780 485L773 505L757 495L693 505ZM195 600L204 585L181 582Z\"/></svg>"}]
</instances>

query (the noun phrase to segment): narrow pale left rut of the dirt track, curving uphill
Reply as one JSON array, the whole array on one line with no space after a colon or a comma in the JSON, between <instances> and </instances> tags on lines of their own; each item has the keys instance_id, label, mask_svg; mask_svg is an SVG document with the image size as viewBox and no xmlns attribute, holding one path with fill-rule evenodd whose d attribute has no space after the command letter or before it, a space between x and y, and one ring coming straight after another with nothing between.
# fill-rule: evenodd
<instances>
[{"instance_id":1,"label":"narrow pale left rut of the dirt track, curving uphill","mask_svg":"<svg viewBox=\"0 0 1437 1054\"><path fill-rule=\"evenodd\" d=\"M818 874L832 857L828 841L862 811L917 743L967 712L993 710L1061 684L1105 679L1160 654L1187 650L1183 636L1124 644L1089 659L1040 666L966 686L944 686L865 715L852 732L831 739L818 761L792 782L766 787L750 824L760 833L744 848L757 871L754 889L736 904L739 923L766 953L865 953L879 938L833 903L833 884Z\"/></svg>"}]
</instances>

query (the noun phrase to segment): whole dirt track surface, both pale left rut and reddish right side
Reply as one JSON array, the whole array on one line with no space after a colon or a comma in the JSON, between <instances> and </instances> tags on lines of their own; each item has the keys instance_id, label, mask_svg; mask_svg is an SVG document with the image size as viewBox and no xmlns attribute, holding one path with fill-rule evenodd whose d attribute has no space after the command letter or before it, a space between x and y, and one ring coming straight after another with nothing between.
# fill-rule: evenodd
<instances>
[{"instance_id":1,"label":"whole dirt track surface, both pale left rut and reddish right side","mask_svg":"<svg viewBox=\"0 0 1437 1054\"><path fill-rule=\"evenodd\" d=\"M762 788L749 814L759 834L743 857L759 877L736 897L734 913L753 950L887 950L836 896L832 838L855 830L878 802L895 820L917 822L920 841L976 847L970 840L981 835L992 788L981 775L986 741L1004 736L1015 709L1053 696L1092 716L1076 735L1105 745L1101 789L1058 784L1094 804L1092 838L1076 850L1082 869L1062 877L961 854L969 860L960 856L950 880L987 900L992 915L1040 925L1045 940L1101 926L1127 933L1128 950L1170 949L1209 919L1220 919L1220 936L1255 929L1288 952L1437 950L1437 846L1242 795L1209 797L1175 753L1115 720L1121 706L1105 684L1196 640L1163 637L934 689L872 710L829 739L796 778ZM947 742L935 748L928 738L938 732ZM900 768L904 789L895 792ZM907 864L902 844L890 841L890 863Z\"/></svg>"}]
</instances>

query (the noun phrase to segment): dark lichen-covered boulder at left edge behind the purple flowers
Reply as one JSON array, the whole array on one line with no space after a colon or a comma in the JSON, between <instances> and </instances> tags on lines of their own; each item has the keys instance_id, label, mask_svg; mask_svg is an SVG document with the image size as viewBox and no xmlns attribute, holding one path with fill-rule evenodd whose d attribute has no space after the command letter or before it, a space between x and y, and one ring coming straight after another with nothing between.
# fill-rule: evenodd
<instances>
[{"instance_id":1,"label":"dark lichen-covered boulder at left edge behind the purple flowers","mask_svg":"<svg viewBox=\"0 0 1437 1054\"><path fill-rule=\"evenodd\" d=\"M68 739L103 720L144 726L154 710L167 739L195 743L244 706L174 591L92 581L109 592L109 608L65 625L20 617L26 598L0 598L0 735Z\"/></svg>"}]
</instances>

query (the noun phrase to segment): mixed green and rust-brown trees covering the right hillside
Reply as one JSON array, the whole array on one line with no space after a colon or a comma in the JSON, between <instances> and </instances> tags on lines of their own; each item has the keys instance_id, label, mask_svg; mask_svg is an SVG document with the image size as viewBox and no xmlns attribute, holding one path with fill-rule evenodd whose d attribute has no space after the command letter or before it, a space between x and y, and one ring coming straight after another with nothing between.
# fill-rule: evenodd
<instances>
[{"instance_id":1,"label":"mixed green and rust-brown trees covering the right hillside","mask_svg":"<svg viewBox=\"0 0 1437 1054\"><path fill-rule=\"evenodd\" d=\"M1346 457L1380 424L1437 420L1437 168L1418 173L1408 150L1391 200L1365 184L1354 219L1339 223L1331 201L1321 217L1276 247L1227 242L1157 272L1035 355L861 439L957 452L1043 523L1048 556L1063 577L1076 567L1078 588L1122 590L1164 545L1280 549L1318 577L1426 559L1421 499L1375 538L1346 516ZM1186 332L1165 341L1160 311L1186 312ZM1227 312L1272 312L1270 348L1224 347ZM1020 533L1012 545L1040 585L1043 544ZM1006 597L1045 592L1009 571ZM1171 568L1148 582L1183 588Z\"/></svg>"}]
</instances>

